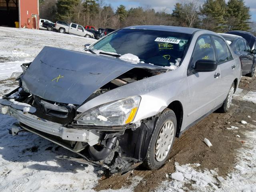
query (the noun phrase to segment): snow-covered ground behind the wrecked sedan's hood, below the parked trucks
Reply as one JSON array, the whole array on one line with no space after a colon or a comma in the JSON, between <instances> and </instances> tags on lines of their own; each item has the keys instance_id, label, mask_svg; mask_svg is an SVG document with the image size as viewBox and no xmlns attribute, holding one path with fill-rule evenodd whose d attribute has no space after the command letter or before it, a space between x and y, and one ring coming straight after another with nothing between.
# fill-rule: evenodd
<instances>
[{"instance_id":1,"label":"snow-covered ground behind the wrecked sedan's hood, below the parked trucks","mask_svg":"<svg viewBox=\"0 0 256 192\"><path fill-rule=\"evenodd\" d=\"M0 27L0 80L22 71L20 65L31 62L44 46L83 52L84 44L95 41L46 30Z\"/></svg>"}]
</instances>

